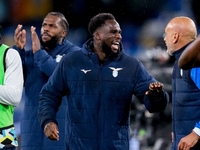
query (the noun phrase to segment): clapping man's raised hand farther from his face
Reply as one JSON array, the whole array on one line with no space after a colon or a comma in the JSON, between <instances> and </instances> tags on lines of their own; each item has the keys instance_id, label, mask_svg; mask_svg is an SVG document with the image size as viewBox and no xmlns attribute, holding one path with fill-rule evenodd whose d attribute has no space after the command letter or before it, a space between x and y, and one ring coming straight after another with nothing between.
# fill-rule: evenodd
<instances>
[{"instance_id":1,"label":"clapping man's raised hand farther from his face","mask_svg":"<svg viewBox=\"0 0 200 150\"><path fill-rule=\"evenodd\" d=\"M26 45L26 30L22 30L22 25L18 25L14 35L15 44L19 49L24 49Z\"/></svg>"}]
</instances>

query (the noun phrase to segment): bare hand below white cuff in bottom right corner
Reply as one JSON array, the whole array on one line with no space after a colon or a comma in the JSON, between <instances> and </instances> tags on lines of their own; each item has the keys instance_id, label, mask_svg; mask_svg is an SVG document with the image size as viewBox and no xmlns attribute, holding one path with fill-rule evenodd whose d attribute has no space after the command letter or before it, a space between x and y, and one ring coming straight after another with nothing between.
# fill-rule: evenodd
<instances>
[{"instance_id":1,"label":"bare hand below white cuff in bottom right corner","mask_svg":"<svg viewBox=\"0 0 200 150\"><path fill-rule=\"evenodd\" d=\"M200 139L200 137L192 131L189 135L183 137L179 144L178 144L178 150L190 150Z\"/></svg>"}]
</instances>

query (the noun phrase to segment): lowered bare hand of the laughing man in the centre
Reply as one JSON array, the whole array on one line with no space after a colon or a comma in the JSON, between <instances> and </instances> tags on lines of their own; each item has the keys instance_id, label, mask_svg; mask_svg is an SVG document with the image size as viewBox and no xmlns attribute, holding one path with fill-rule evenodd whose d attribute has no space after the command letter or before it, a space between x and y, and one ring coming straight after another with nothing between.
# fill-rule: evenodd
<instances>
[{"instance_id":1,"label":"lowered bare hand of the laughing man in the centre","mask_svg":"<svg viewBox=\"0 0 200 150\"><path fill-rule=\"evenodd\" d=\"M44 133L50 140L59 140L58 127L54 122L49 122L45 125Z\"/></svg>"}]
</instances>

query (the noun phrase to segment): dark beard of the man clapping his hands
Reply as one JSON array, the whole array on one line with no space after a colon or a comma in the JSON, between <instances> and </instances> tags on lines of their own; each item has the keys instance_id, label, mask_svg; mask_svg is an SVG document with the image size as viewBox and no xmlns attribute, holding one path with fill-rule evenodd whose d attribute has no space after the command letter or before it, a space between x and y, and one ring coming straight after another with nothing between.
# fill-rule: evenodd
<instances>
[{"instance_id":1,"label":"dark beard of the man clapping his hands","mask_svg":"<svg viewBox=\"0 0 200 150\"><path fill-rule=\"evenodd\" d=\"M51 37L51 40L44 42L42 41L42 36L40 36L40 43L45 50L50 51L56 47L58 39L54 36Z\"/></svg>"}]
</instances>

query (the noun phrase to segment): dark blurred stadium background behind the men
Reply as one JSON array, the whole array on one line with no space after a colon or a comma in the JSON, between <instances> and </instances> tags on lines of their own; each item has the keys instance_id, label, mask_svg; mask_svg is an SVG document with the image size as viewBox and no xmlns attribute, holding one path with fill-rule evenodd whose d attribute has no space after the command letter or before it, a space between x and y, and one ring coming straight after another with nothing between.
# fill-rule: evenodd
<instances>
[{"instance_id":1,"label":"dark blurred stadium background behind the men","mask_svg":"<svg viewBox=\"0 0 200 150\"><path fill-rule=\"evenodd\" d=\"M174 58L166 53L164 29L172 18L187 16L195 21L199 30L199 5L199 0L0 0L2 43L13 46L15 29L22 24L27 30L26 49L31 49L30 27L35 26L40 35L43 18L48 12L58 11L66 16L70 25L67 39L82 46L89 38L87 26L90 18L100 12L110 12L120 23L126 53L139 58L171 96ZM19 137L23 102L22 98L14 113ZM131 150L170 149L171 102L164 112L150 114L133 97L130 113L130 143L135 146L130 146Z\"/></svg>"}]
</instances>

